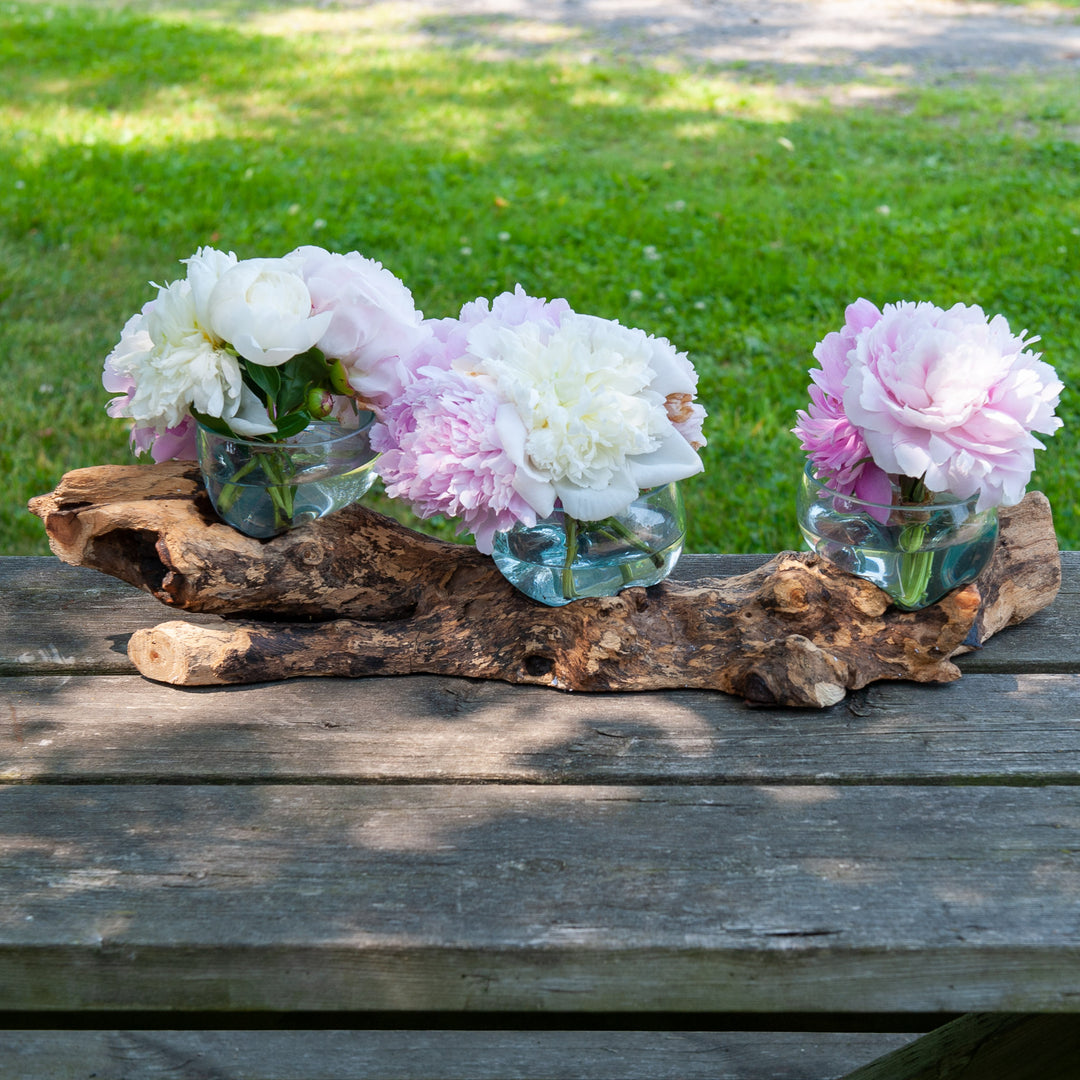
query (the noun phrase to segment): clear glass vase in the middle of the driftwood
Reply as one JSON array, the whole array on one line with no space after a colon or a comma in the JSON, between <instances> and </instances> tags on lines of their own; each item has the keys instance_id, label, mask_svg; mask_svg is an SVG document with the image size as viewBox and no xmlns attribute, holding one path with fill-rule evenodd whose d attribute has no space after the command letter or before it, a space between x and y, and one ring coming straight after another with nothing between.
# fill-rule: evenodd
<instances>
[{"instance_id":1,"label":"clear glass vase in the middle of the driftwood","mask_svg":"<svg viewBox=\"0 0 1080 1080\"><path fill-rule=\"evenodd\" d=\"M666 484L643 491L621 514L602 522L579 522L556 507L531 527L496 534L491 556L526 596L561 607L663 581L685 538L683 496L677 484Z\"/></svg>"}]
</instances>

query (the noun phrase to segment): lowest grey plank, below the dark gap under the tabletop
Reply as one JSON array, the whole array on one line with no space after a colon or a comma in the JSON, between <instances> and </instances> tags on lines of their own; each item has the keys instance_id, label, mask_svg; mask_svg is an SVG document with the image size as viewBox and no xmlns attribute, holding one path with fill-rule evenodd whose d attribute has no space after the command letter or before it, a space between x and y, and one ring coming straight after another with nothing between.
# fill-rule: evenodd
<instances>
[{"instance_id":1,"label":"lowest grey plank, below the dark gap under the tabletop","mask_svg":"<svg viewBox=\"0 0 1080 1080\"><path fill-rule=\"evenodd\" d=\"M8 1080L836 1080L912 1035L0 1031Z\"/></svg>"}]
</instances>

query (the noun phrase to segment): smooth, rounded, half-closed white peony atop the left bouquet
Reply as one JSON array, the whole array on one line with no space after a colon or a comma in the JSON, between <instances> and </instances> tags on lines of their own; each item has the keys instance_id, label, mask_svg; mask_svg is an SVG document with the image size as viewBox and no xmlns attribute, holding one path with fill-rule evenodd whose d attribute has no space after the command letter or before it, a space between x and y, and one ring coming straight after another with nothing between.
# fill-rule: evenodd
<instances>
[{"instance_id":1,"label":"smooth, rounded, half-closed white peony atop the left bouquet","mask_svg":"<svg viewBox=\"0 0 1080 1080\"><path fill-rule=\"evenodd\" d=\"M296 260L243 259L217 279L205 320L245 360L279 367L322 337L330 313L311 313L311 294Z\"/></svg>"}]
</instances>

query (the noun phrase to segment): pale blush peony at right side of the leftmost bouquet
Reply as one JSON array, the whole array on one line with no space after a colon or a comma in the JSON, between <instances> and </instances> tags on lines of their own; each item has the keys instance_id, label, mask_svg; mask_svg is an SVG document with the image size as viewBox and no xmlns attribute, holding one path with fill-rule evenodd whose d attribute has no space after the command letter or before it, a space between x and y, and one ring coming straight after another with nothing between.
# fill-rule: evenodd
<instances>
[{"instance_id":1,"label":"pale blush peony at right side of the leftmost bouquet","mask_svg":"<svg viewBox=\"0 0 1080 1080\"><path fill-rule=\"evenodd\" d=\"M389 405L415 369L409 357L432 332L413 294L380 262L357 252L339 255L309 245L289 257L299 260L312 312L329 313L319 349L345 364L361 399L376 408Z\"/></svg>"}]
</instances>

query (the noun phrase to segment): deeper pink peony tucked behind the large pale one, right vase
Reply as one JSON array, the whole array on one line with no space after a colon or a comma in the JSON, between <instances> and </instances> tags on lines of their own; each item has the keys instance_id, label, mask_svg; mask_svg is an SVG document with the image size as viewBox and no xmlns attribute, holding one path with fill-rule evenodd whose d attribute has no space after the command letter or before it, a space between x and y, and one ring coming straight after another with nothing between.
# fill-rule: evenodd
<instances>
[{"instance_id":1,"label":"deeper pink peony tucked behind the large pale one, right vase","mask_svg":"<svg viewBox=\"0 0 1080 1080\"><path fill-rule=\"evenodd\" d=\"M810 408L799 409L793 431L819 478L833 490L867 502L888 503L892 498L891 481L870 459L862 432L843 410L843 379L855 340L880 318L875 305L859 299L848 306L843 327L818 342L813 355L821 368L810 372Z\"/></svg>"}]
</instances>

